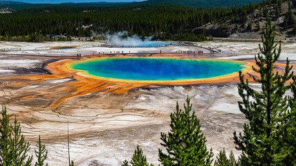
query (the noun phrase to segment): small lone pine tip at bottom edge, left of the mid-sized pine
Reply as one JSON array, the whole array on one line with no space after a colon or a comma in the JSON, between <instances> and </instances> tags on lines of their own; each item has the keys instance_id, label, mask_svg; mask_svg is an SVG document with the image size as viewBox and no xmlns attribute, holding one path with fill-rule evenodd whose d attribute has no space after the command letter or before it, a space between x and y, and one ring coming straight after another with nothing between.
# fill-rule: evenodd
<instances>
[{"instance_id":1,"label":"small lone pine tip at bottom edge, left of the mid-sized pine","mask_svg":"<svg viewBox=\"0 0 296 166\"><path fill-rule=\"evenodd\" d=\"M132 166L153 166L147 163L146 156L143 155L143 151L139 145L137 146L137 149L135 150L131 161L128 162L127 160L124 160L122 166L129 166L129 163L131 163Z\"/></svg>"}]
</instances>

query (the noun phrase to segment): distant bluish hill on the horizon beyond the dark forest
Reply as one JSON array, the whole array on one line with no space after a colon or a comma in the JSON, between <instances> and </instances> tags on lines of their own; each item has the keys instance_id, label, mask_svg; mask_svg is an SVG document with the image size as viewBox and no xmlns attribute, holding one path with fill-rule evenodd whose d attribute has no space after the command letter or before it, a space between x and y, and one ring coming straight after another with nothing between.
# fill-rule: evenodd
<instances>
[{"instance_id":1,"label":"distant bluish hill on the horizon beyond the dark forest","mask_svg":"<svg viewBox=\"0 0 296 166\"><path fill-rule=\"evenodd\" d=\"M261 0L148 0L142 3L172 3L181 6L187 7L205 7L205 8L212 8L212 7L228 7L232 6L232 4L237 4L237 6L242 6L243 4L250 4L250 3L259 3Z\"/></svg>"}]
</instances>

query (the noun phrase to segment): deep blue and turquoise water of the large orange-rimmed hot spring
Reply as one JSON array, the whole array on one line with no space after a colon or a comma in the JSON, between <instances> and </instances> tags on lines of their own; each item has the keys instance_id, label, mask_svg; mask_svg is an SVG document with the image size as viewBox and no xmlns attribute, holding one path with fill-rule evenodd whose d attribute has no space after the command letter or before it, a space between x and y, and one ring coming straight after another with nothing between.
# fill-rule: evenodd
<instances>
[{"instance_id":1,"label":"deep blue and turquoise water of the large orange-rimmed hot spring","mask_svg":"<svg viewBox=\"0 0 296 166\"><path fill-rule=\"evenodd\" d=\"M172 81L218 77L240 71L246 62L174 58L102 58L77 62L71 68L121 80Z\"/></svg>"}]
</instances>

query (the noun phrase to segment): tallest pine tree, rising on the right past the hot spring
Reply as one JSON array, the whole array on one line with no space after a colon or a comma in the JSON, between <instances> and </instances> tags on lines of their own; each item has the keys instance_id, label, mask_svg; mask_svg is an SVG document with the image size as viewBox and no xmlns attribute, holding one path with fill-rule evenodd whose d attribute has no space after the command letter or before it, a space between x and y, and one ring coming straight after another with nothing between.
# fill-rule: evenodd
<instances>
[{"instance_id":1,"label":"tallest pine tree, rising on the right past the hot spring","mask_svg":"<svg viewBox=\"0 0 296 166\"><path fill-rule=\"evenodd\" d=\"M277 48L275 37L272 34L273 27L266 25L263 33L263 47L259 48L263 55L255 57L258 68L253 70L260 74L260 79L253 77L255 82L261 84L261 91L251 89L248 80L244 80L239 72L240 83L238 85L239 95L242 101L239 102L239 109L249 120L243 125L243 133L239 136L234 132L234 142L237 149L242 151L242 165L277 165L279 154L279 136L277 136L281 114L288 109L288 98L285 93L289 89L285 83L290 80L293 73L287 59L283 75L275 73L275 65L281 53L281 45ZM281 124L284 125L284 124ZM281 133L280 133L281 134Z\"/></svg>"}]
</instances>

